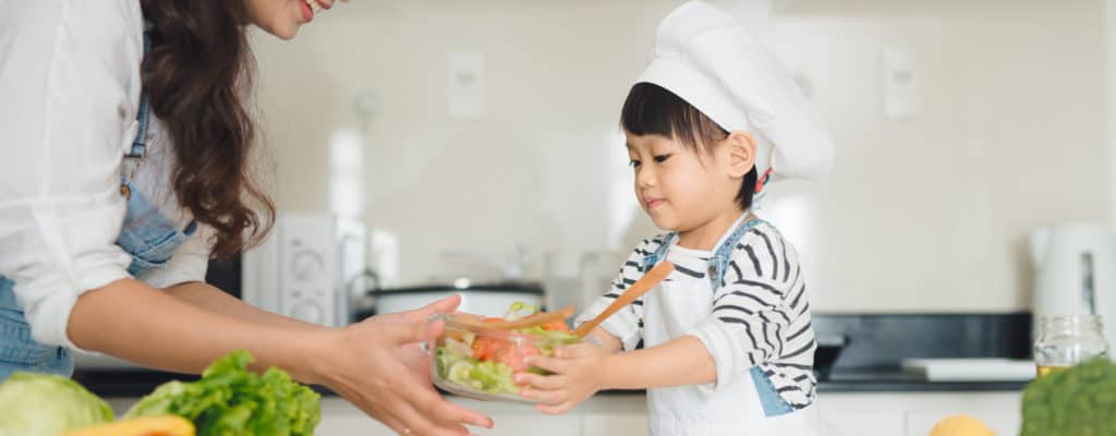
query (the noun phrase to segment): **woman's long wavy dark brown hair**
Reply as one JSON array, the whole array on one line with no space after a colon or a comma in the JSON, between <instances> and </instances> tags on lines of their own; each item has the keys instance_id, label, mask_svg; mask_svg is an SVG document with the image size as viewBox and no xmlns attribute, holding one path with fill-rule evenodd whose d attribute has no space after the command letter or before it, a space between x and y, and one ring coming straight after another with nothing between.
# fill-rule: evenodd
<instances>
[{"instance_id":1,"label":"woman's long wavy dark brown hair","mask_svg":"<svg viewBox=\"0 0 1116 436\"><path fill-rule=\"evenodd\" d=\"M256 125L244 104L253 72L244 1L141 4L152 42L143 87L173 142L175 195L215 230L212 258L238 253L275 223L275 204L250 174Z\"/></svg>"}]
</instances>

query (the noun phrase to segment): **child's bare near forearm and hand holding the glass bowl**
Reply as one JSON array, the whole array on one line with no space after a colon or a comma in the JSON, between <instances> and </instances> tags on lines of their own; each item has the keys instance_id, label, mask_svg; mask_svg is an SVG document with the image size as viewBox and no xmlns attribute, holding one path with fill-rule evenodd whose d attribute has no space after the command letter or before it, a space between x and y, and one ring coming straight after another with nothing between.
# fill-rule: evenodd
<instances>
[{"instance_id":1,"label":"child's bare near forearm and hand holding the glass bowl","mask_svg":"<svg viewBox=\"0 0 1116 436\"><path fill-rule=\"evenodd\" d=\"M619 340L612 340L615 347L612 350L579 343L555 350L552 358L527 358L528 365L554 375L516 375L517 384L530 386L521 395L538 400L538 408L545 414L562 414L598 390L704 385L716 380L713 358L692 336L629 352L616 352Z\"/></svg>"}]
</instances>

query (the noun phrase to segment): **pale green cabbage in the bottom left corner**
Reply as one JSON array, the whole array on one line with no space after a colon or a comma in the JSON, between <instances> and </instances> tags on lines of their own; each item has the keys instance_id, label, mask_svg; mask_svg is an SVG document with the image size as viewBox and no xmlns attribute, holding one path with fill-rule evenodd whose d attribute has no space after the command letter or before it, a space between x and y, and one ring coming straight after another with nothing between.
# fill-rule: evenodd
<instances>
[{"instance_id":1,"label":"pale green cabbage in the bottom left corner","mask_svg":"<svg viewBox=\"0 0 1116 436\"><path fill-rule=\"evenodd\" d=\"M0 436L56 436L112 420L105 400L66 377L16 372L0 384Z\"/></svg>"}]
</instances>

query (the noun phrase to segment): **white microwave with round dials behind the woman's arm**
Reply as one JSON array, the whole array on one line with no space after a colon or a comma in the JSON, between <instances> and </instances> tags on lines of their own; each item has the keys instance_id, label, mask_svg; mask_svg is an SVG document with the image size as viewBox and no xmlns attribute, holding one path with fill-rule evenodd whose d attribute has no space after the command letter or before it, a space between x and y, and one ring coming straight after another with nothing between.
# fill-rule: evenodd
<instances>
[{"instance_id":1,"label":"white microwave with round dials behind the woman's arm","mask_svg":"<svg viewBox=\"0 0 1116 436\"><path fill-rule=\"evenodd\" d=\"M280 213L271 235L243 255L242 299L302 321L343 327L365 289L364 225L330 214Z\"/></svg>"}]
</instances>

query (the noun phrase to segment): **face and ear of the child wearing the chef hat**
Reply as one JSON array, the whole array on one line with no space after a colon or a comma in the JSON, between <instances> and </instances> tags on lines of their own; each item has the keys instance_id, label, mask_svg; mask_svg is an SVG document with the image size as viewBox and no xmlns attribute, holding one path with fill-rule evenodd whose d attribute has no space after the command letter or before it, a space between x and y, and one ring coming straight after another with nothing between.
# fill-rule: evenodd
<instances>
[{"instance_id":1,"label":"face and ear of the child wearing the chef hat","mask_svg":"<svg viewBox=\"0 0 1116 436\"><path fill-rule=\"evenodd\" d=\"M727 144L704 152L661 135L625 135L635 196L660 229L684 233L740 212Z\"/></svg>"}]
</instances>

